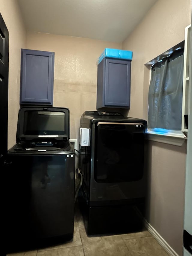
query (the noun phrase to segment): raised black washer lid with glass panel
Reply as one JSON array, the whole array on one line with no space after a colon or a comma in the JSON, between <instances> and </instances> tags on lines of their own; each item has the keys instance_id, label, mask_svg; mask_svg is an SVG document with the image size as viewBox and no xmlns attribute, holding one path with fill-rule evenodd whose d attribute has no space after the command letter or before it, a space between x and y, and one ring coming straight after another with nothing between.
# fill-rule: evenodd
<instances>
[{"instance_id":1,"label":"raised black washer lid with glass panel","mask_svg":"<svg viewBox=\"0 0 192 256\"><path fill-rule=\"evenodd\" d=\"M69 109L61 107L21 107L16 142L25 140L69 140Z\"/></svg>"}]
</instances>

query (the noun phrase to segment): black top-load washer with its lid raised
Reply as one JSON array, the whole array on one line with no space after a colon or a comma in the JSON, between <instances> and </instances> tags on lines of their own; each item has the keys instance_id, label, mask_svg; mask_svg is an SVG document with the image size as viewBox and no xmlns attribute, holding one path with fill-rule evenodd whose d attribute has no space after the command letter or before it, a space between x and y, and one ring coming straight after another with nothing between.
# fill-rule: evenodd
<instances>
[{"instance_id":1,"label":"black top-load washer with its lid raised","mask_svg":"<svg viewBox=\"0 0 192 256\"><path fill-rule=\"evenodd\" d=\"M7 252L73 238L75 151L69 109L21 107L5 162Z\"/></svg>"}]
</instances>

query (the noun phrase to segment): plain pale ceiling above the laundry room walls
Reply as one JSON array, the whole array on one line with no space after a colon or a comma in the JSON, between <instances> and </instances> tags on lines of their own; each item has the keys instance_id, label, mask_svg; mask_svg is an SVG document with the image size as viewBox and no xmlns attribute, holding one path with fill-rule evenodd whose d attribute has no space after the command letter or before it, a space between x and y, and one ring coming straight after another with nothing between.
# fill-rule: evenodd
<instances>
[{"instance_id":1,"label":"plain pale ceiling above the laundry room walls","mask_svg":"<svg viewBox=\"0 0 192 256\"><path fill-rule=\"evenodd\" d=\"M157 0L17 0L33 32L121 43Z\"/></svg>"}]
</instances>

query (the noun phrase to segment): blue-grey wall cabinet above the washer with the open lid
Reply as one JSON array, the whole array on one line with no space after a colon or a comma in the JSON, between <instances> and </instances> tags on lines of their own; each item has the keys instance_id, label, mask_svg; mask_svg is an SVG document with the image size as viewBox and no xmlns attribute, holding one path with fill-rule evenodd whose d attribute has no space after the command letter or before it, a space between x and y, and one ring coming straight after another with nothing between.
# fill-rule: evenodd
<instances>
[{"instance_id":1,"label":"blue-grey wall cabinet above the washer with the open lid","mask_svg":"<svg viewBox=\"0 0 192 256\"><path fill-rule=\"evenodd\" d=\"M20 104L53 105L55 53L21 49Z\"/></svg>"}]
</instances>

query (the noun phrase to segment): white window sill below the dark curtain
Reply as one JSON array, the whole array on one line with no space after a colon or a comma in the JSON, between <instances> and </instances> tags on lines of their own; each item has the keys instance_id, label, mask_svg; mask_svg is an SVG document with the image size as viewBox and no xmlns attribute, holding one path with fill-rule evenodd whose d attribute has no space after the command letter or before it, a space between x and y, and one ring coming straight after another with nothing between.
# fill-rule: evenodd
<instances>
[{"instance_id":1,"label":"white window sill below the dark curtain","mask_svg":"<svg viewBox=\"0 0 192 256\"><path fill-rule=\"evenodd\" d=\"M157 141L161 143L182 146L187 137L182 131L157 132L154 129L148 129L147 140Z\"/></svg>"}]
</instances>

